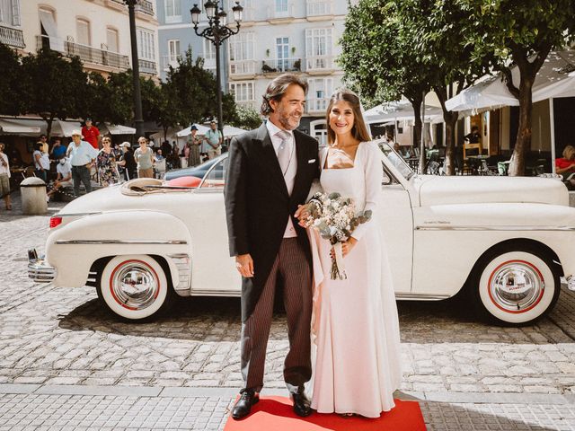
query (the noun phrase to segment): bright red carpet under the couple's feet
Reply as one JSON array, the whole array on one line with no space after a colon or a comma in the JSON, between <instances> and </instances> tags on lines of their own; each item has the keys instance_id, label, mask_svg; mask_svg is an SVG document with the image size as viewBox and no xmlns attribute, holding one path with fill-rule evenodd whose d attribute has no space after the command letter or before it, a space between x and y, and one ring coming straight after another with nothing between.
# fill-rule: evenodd
<instances>
[{"instance_id":1,"label":"bright red carpet under the couple's feet","mask_svg":"<svg viewBox=\"0 0 575 431\"><path fill-rule=\"evenodd\" d=\"M299 418L285 397L262 397L252 414L242 420L228 418L224 431L425 431L420 405L415 401L395 400L395 409L376 419L341 418L340 415L314 413Z\"/></svg>"}]
</instances>

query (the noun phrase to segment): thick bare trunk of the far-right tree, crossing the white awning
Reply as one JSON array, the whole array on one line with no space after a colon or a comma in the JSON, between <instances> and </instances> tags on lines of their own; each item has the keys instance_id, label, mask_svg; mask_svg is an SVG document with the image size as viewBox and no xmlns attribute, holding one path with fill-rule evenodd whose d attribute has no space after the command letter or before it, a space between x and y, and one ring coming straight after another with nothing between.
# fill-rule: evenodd
<instances>
[{"instance_id":1,"label":"thick bare trunk of the far-right tree, crossing the white awning","mask_svg":"<svg viewBox=\"0 0 575 431\"><path fill-rule=\"evenodd\" d=\"M531 148L531 117L533 115L534 76L522 76L519 85L519 127L515 149L509 163L509 176L525 175L526 152Z\"/></svg>"}]
</instances>

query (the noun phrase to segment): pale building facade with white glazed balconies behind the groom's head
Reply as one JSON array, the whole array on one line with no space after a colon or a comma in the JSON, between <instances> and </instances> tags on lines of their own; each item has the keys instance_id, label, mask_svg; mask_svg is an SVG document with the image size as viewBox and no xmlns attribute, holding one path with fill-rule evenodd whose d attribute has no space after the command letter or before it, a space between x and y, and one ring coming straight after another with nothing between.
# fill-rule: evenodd
<instances>
[{"instance_id":1,"label":"pale building facade with white glazed balconies behind the groom's head","mask_svg":"<svg viewBox=\"0 0 575 431\"><path fill-rule=\"evenodd\" d=\"M243 0L242 30L228 45L230 92L238 105L259 110L270 80L284 72L309 84L300 129L327 138L325 110L341 86L343 71L335 59L348 2L339 0Z\"/></svg>"}]
</instances>

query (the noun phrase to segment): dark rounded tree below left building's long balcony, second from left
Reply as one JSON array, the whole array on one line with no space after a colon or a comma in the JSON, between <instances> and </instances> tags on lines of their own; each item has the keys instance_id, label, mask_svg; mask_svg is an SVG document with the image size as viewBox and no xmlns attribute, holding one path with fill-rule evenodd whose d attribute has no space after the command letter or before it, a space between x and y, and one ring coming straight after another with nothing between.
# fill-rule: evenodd
<instances>
[{"instance_id":1,"label":"dark rounded tree below left building's long balcony, second from left","mask_svg":"<svg viewBox=\"0 0 575 431\"><path fill-rule=\"evenodd\" d=\"M23 97L28 112L46 121L47 135L54 119L78 118L84 115L84 91L87 75L78 57L65 58L49 48L22 58Z\"/></svg>"}]
</instances>

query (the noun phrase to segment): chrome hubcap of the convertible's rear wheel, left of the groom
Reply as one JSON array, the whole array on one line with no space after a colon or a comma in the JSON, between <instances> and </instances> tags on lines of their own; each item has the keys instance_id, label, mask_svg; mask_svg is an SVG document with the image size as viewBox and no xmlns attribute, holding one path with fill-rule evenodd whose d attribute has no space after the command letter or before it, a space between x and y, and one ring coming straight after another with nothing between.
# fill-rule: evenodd
<instances>
[{"instance_id":1,"label":"chrome hubcap of the convertible's rear wheel, left of the groom","mask_svg":"<svg viewBox=\"0 0 575 431\"><path fill-rule=\"evenodd\" d=\"M152 268L127 262L119 266L111 280L116 301L131 310L143 310L155 302L159 285Z\"/></svg>"}]
</instances>

